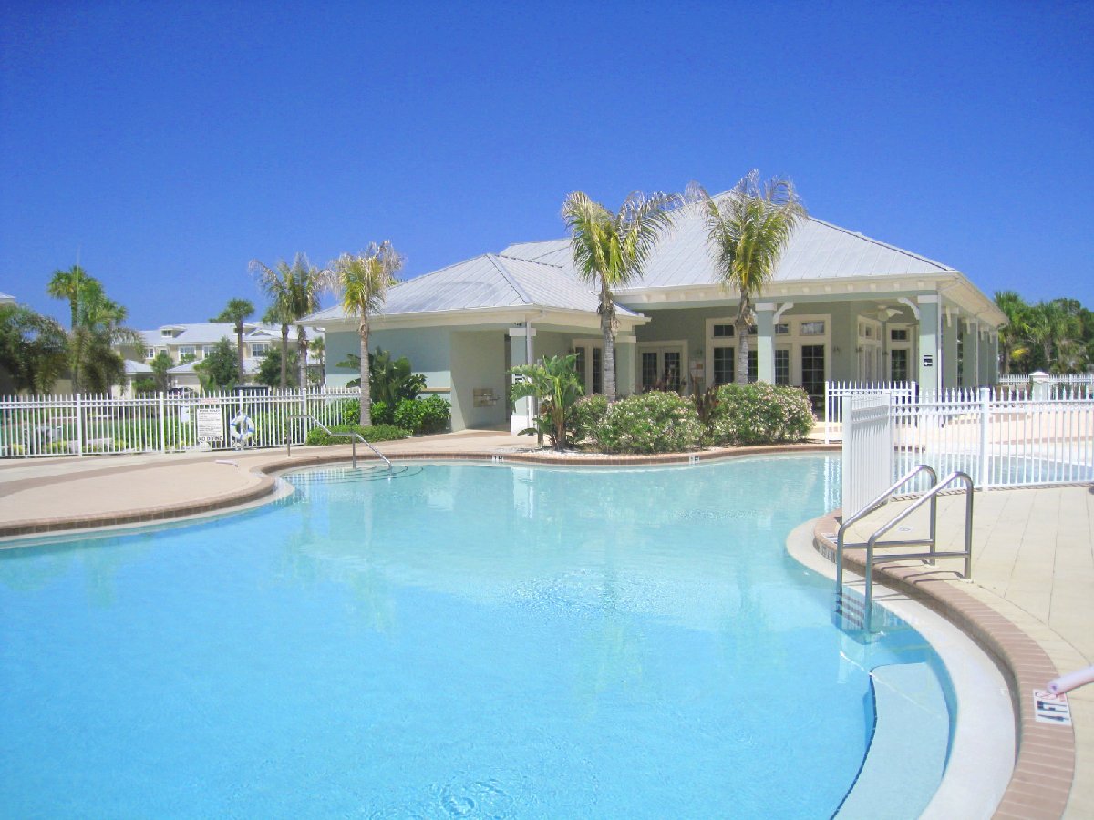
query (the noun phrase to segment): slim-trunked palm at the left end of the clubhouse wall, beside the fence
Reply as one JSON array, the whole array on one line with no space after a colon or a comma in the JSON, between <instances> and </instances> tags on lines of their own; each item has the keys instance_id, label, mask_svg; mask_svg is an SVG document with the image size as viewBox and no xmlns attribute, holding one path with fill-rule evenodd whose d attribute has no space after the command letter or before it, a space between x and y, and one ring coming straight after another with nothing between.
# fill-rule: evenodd
<instances>
[{"instance_id":1,"label":"slim-trunked palm at the left end of the clubhouse wall, beside the fence","mask_svg":"<svg viewBox=\"0 0 1094 820\"><path fill-rule=\"evenodd\" d=\"M357 316L361 337L361 426L372 426L372 394L369 386L369 317L383 307L387 289L396 283L395 274L403 257L386 239L372 243L363 254L342 254L323 272L324 286L341 293L347 316Z\"/></svg>"}]
</instances>

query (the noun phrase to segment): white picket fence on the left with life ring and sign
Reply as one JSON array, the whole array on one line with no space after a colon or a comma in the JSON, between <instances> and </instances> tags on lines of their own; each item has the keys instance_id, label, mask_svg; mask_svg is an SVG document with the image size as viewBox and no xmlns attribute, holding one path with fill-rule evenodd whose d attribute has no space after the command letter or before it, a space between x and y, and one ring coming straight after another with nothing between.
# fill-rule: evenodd
<instances>
[{"instance_id":1,"label":"white picket fence on the left with life ring and sign","mask_svg":"<svg viewBox=\"0 0 1094 820\"><path fill-rule=\"evenodd\" d=\"M314 426L344 421L342 403L360 390L221 393L117 399L109 396L0 397L0 457L83 456L91 453L166 453L226 449L237 443L241 412L254 424L248 447L302 444ZM354 422L357 419L345 419ZM200 422L200 424L199 424Z\"/></svg>"}]
</instances>

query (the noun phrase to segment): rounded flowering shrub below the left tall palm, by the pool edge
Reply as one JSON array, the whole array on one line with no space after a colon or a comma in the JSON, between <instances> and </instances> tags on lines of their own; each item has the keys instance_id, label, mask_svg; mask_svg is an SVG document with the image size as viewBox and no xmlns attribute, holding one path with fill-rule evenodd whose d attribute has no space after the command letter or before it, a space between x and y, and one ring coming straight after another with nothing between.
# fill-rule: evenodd
<instances>
[{"instance_id":1,"label":"rounded flowering shrub below the left tall palm, by the pool edge","mask_svg":"<svg viewBox=\"0 0 1094 820\"><path fill-rule=\"evenodd\" d=\"M609 405L594 430L605 453L677 453L699 443L699 418L675 393L643 393Z\"/></svg>"}]
</instances>

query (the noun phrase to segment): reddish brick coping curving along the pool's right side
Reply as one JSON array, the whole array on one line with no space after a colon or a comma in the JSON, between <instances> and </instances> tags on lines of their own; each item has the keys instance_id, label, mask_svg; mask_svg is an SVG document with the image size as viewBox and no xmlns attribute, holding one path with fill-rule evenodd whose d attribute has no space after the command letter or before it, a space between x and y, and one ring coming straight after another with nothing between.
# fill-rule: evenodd
<instances>
[{"instance_id":1,"label":"reddish brick coping curving along the pool's right side","mask_svg":"<svg viewBox=\"0 0 1094 820\"><path fill-rule=\"evenodd\" d=\"M831 535L840 525L840 511L816 520L813 543L817 552L835 562ZM865 550L846 549L843 560L865 574ZM1003 673L1014 708L1016 758L1011 781L996 807L1000 820L1024 818L1055 820L1064 813L1075 771L1075 735L1071 726L1038 723L1033 692L1059 675L1041 646L997 612L961 588L955 573L927 569L921 563L892 562L874 565L874 581L907 594L941 614L971 637L996 661Z\"/></svg>"}]
</instances>

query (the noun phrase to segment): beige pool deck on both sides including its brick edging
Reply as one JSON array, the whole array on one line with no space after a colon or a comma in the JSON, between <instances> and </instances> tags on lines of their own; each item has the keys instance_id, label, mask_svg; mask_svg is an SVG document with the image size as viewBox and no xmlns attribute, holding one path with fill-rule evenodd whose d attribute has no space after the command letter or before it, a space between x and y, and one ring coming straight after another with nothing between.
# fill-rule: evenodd
<instances>
[{"instance_id":1,"label":"beige pool deck on both sides including its brick edging","mask_svg":"<svg viewBox=\"0 0 1094 820\"><path fill-rule=\"evenodd\" d=\"M391 458L500 457L585 465L682 460L558 457L532 452L534 440L529 436L498 432L424 436L377 446ZM258 503L275 492L274 473L345 461L349 449L348 445L298 447L291 457L284 450L267 449L3 459L0 537L147 523ZM801 449L738 452L758 455ZM729 454L713 450L701 458ZM358 455L371 454L362 447ZM865 540L872 531L868 528L876 527L893 512L893 506L887 506L865 518L849 540ZM943 496L939 513L939 549L955 549L964 532L959 499ZM915 518L908 523L920 526ZM830 517L818 522L821 549L836 526ZM18 542L15 538L0 546ZM1069 695L1073 734L1066 727L1036 723L1032 706L1033 689L1056 673L1094 664L1094 487L978 492L973 543L971 583L956 579L951 570L959 570L961 560L955 559L945 559L936 567L918 562L889 564L881 576L956 621L1001 658L1016 680L1020 754L996 817L1094 817L1094 686Z\"/></svg>"}]
</instances>

